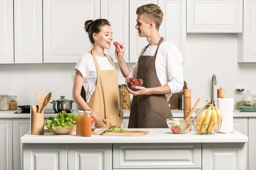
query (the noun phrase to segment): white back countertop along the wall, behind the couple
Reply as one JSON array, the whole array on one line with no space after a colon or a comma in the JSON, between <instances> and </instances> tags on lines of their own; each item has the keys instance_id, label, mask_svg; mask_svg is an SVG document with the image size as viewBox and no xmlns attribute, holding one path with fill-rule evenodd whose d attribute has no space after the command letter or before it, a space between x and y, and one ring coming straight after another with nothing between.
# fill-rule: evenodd
<instances>
[{"instance_id":1,"label":"white back countertop along the wall, behind the couple","mask_svg":"<svg viewBox=\"0 0 256 170\"><path fill-rule=\"evenodd\" d=\"M49 112L53 113L49 113ZM74 110L73 113L77 114L78 110ZM130 116L130 110L123 110L124 117ZM0 118L30 118L30 113L15 113L17 111L0 111ZM48 113L47 113L48 112ZM50 116L55 117L57 113L54 113L53 110L45 110L44 117L48 118ZM173 117L183 117L183 111L172 110ZM195 113L192 114L194 116ZM234 112L234 117L256 117L256 112Z\"/></svg>"}]
</instances>

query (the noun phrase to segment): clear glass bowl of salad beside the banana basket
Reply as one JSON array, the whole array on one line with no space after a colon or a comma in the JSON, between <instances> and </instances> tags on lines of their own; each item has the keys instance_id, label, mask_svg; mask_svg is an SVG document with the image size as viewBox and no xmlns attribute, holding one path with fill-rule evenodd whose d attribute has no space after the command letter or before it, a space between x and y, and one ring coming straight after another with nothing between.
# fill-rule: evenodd
<instances>
[{"instance_id":1,"label":"clear glass bowl of salad beside the banana basket","mask_svg":"<svg viewBox=\"0 0 256 170\"><path fill-rule=\"evenodd\" d=\"M172 130L172 133L185 134L189 131L195 120L185 121L183 118L171 118L166 119L168 127Z\"/></svg>"}]
</instances>

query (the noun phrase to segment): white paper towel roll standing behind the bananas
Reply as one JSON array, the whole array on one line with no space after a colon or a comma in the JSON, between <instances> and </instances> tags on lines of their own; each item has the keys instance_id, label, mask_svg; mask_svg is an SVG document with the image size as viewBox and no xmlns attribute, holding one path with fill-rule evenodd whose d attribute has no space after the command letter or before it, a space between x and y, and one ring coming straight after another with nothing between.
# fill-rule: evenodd
<instances>
[{"instance_id":1,"label":"white paper towel roll standing behind the bananas","mask_svg":"<svg viewBox=\"0 0 256 170\"><path fill-rule=\"evenodd\" d=\"M217 99L217 108L223 116L220 132L233 133L233 106L232 98Z\"/></svg>"}]
</instances>

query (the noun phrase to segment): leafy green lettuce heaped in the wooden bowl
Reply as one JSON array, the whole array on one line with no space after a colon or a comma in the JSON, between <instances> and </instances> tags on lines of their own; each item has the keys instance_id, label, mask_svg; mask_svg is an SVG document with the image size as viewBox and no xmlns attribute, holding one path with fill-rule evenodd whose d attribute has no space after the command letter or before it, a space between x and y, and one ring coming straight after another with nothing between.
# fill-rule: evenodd
<instances>
[{"instance_id":1,"label":"leafy green lettuce heaped in the wooden bowl","mask_svg":"<svg viewBox=\"0 0 256 170\"><path fill-rule=\"evenodd\" d=\"M55 130L57 126L61 128L69 127L70 125L76 125L76 116L74 113L68 114L66 111L61 111L56 117L49 117L45 124L52 130Z\"/></svg>"}]
</instances>

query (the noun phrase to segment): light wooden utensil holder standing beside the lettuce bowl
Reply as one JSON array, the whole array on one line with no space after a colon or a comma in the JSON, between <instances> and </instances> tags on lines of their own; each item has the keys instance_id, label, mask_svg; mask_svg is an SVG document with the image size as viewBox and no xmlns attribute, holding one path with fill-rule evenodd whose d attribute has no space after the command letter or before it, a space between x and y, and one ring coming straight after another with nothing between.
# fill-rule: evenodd
<instances>
[{"instance_id":1,"label":"light wooden utensil holder standing beside the lettuce bowl","mask_svg":"<svg viewBox=\"0 0 256 170\"><path fill-rule=\"evenodd\" d=\"M43 135L44 113L38 113L38 108L36 108L36 105L31 105L30 108L30 134Z\"/></svg>"}]
</instances>

